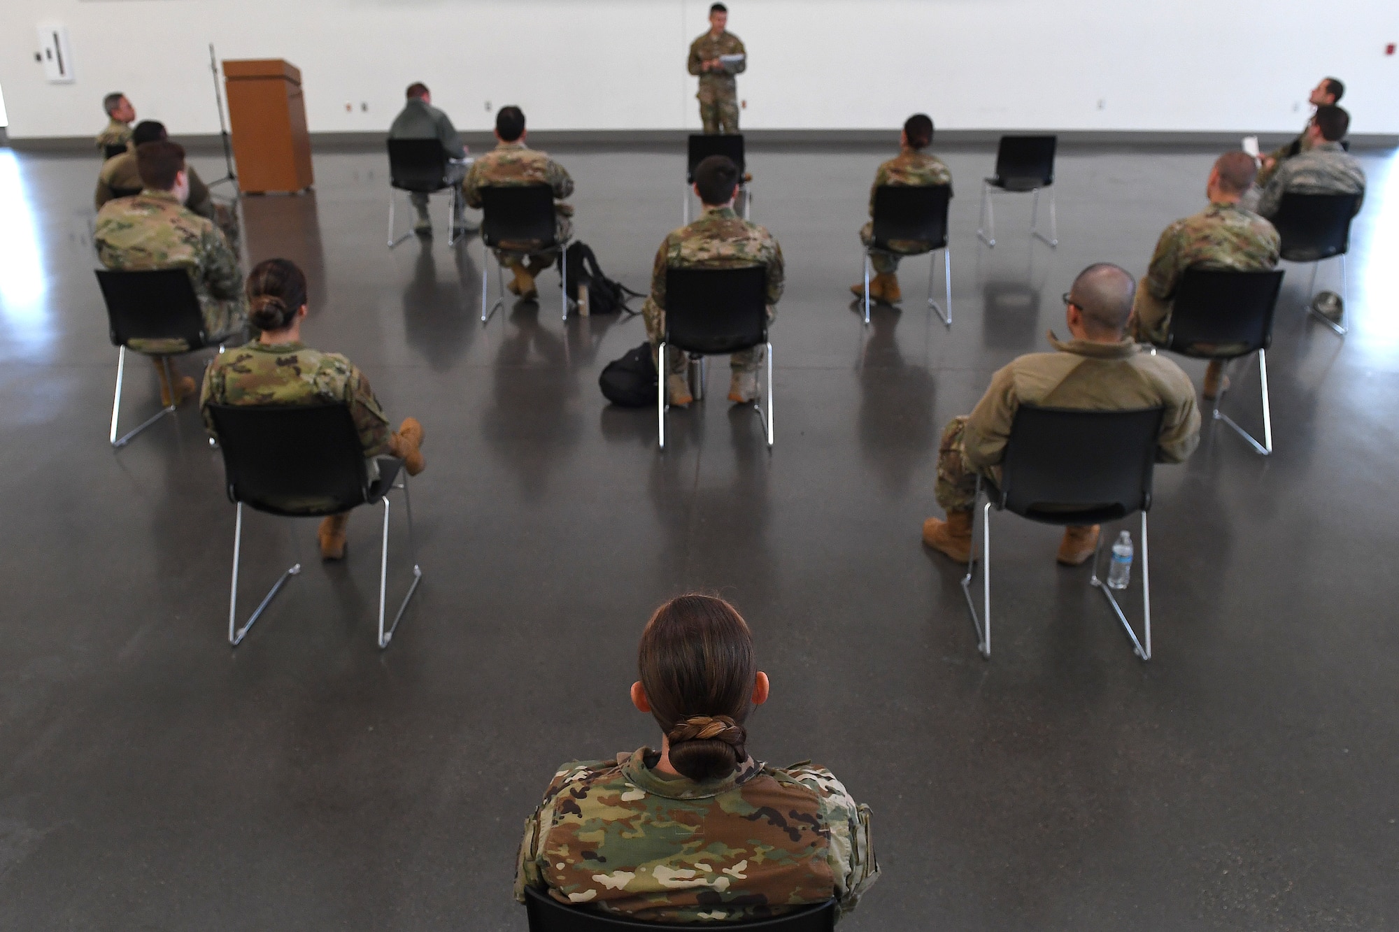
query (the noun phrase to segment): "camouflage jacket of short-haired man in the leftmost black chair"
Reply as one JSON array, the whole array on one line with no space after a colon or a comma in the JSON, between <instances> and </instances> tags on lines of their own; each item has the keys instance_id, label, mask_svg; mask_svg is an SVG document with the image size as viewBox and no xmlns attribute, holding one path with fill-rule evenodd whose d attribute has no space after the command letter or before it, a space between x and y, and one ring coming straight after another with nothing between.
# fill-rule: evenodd
<instances>
[{"instance_id":1,"label":"camouflage jacket of short-haired man in the leftmost black chair","mask_svg":"<svg viewBox=\"0 0 1399 932\"><path fill-rule=\"evenodd\" d=\"M171 192L143 190L108 202L97 211L92 239L108 269L185 267L210 340L246 325L243 276L234 250L211 221L187 210ZM155 354L189 348L183 340L133 340L130 347Z\"/></svg>"}]
</instances>

